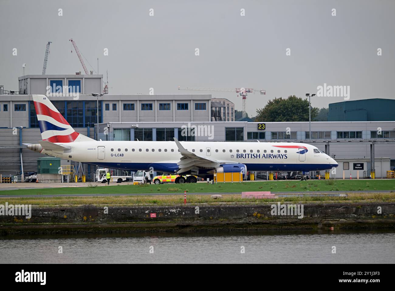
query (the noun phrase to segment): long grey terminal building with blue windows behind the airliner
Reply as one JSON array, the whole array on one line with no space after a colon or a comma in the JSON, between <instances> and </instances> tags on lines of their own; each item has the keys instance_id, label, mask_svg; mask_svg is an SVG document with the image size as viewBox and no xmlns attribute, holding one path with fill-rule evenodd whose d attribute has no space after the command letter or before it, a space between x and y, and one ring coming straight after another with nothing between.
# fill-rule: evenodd
<instances>
[{"instance_id":1,"label":"long grey terminal building with blue windows behind the airliner","mask_svg":"<svg viewBox=\"0 0 395 291\"><path fill-rule=\"evenodd\" d=\"M76 131L94 139L311 143L338 161L340 175L343 170L350 175L360 159L361 176L369 176L373 145L377 178L395 166L395 121L311 122L310 136L309 122L226 121L218 112L226 106L210 94L95 97L90 93L103 91L102 75L28 75L19 78L19 92L0 92L0 174L15 175L21 163L24 171L37 171L43 155L23 145L41 140L32 94L46 94L48 86L64 90L64 85L77 88L78 98L53 95L51 102ZM94 167L84 165L84 170L92 178Z\"/></svg>"}]
</instances>

